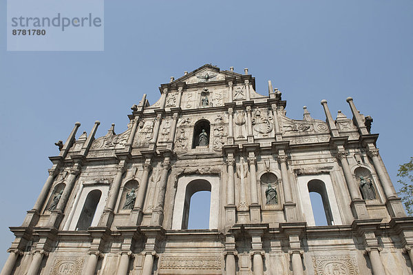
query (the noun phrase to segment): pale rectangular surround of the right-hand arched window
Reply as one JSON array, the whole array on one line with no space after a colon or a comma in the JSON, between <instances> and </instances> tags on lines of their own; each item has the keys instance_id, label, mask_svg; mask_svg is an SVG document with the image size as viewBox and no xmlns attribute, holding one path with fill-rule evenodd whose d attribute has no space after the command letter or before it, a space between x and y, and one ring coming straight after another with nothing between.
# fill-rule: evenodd
<instances>
[{"instance_id":1,"label":"pale rectangular surround of the right-hand arched window","mask_svg":"<svg viewBox=\"0 0 413 275\"><path fill-rule=\"evenodd\" d=\"M304 217L306 218L308 226L316 225L313 214L313 205L311 204L310 199L310 192L315 192L317 194L320 194L320 196L323 196L323 194L325 195L325 198L327 200L326 205L330 206L329 215L331 225L343 224L330 174L298 176L297 183L301 211L304 213ZM343 196L343 194L340 195ZM325 210L321 209L319 211Z\"/></svg>"}]
</instances>

